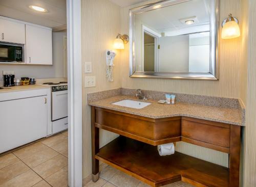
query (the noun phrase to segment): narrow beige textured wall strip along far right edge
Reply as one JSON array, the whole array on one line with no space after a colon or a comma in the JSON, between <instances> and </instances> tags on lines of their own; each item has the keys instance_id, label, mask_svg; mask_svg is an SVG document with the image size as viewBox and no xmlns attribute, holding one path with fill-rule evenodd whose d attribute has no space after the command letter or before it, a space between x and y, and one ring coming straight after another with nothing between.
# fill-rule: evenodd
<instances>
[{"instance_id":1,"label":"narrow beige textured wall strip along far right edge","mask_svg":"<svg viewBox=\"0 0 256 187\"><path fill-rule=\"evenodd\" d=\"M245 0L243 0L245 1ZM245 127L244 186L256 186L256 2L246 0L248 8L247 98ZM244 51L245 56L247 50ZM244 55L244 54L243 54Z\"/></svg>"}]
</instances>

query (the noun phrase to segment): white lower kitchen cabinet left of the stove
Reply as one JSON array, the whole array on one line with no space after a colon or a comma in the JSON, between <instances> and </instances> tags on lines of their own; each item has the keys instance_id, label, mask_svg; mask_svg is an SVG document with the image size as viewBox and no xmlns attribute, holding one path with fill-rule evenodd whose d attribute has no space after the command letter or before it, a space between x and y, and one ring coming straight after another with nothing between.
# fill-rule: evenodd
<instances>
[{"instance_id":1,"label":"white lower kitchen cabinet left of the stove","mask_svg":"<svg viewBox=\"0 0 256 187\"><path fill-rule=\"evenodd\" d=\"M47 98L42 93L28 98L0 99L0 153L47 136Z\"/></svg>"}]
</instances>

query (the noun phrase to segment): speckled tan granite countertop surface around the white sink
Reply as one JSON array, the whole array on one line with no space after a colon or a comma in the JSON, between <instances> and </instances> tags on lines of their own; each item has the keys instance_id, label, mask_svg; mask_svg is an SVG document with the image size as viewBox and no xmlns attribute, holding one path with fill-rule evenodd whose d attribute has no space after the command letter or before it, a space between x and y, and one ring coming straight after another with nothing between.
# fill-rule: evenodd
<instances>
[{"instance_id":1,"label":"speckled tan granite countertop surface around the white sink","mask_svg":"<svg viewBox=\"0 0 256 187\"><path fill-rule=\"evenodd\" d=\"M98 106L104 109L125 112L153 119L174 116L186 116L244 126L244 124L242 123L241 111L239 109L223 108L219 106L208 106L186 102L176 102L175 104L160 104L157 103L158 100L154 99L148 99L147 101L145 101L152 104L146 106L143 109L132 109L125 106L111 104L123 99L138 100L136 97L132 96L117 95L98 101L91 101L88 104L92 106Z\"/></svg>"}]
</instances>

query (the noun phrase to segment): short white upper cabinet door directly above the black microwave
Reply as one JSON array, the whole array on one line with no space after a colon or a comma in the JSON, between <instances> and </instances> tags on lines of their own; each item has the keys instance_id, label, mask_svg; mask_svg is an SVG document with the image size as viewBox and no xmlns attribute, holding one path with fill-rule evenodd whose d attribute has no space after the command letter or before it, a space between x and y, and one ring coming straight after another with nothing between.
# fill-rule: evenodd
<instances>
[{"instance_id":1,"label":"short white upper cabinet door directly above the black microwave","mask_svg":"<svg viewBox=\"0 0 256 187\"><path fill-rule=\"evenodd\" d=\"M0 18L0 41L25 44L25 24Z\"/></svg>"}]
</instances>

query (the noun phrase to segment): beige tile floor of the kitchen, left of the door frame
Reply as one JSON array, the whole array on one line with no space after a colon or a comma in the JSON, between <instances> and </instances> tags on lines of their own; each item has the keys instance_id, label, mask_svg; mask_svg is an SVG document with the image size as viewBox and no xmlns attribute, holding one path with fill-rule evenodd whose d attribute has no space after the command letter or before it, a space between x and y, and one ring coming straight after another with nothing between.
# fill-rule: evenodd
<instances>
[{"instance_id":1,"label":"beige tile floor of the kitchen, left of the door frame","mask_svg":"<svg viewBox=\"0 0 256 187\"><path fill-rule=\"evenodd\" d=\"M68 131L0 155L0 187L68 186Z\"/></svg>"}]
</instances>

